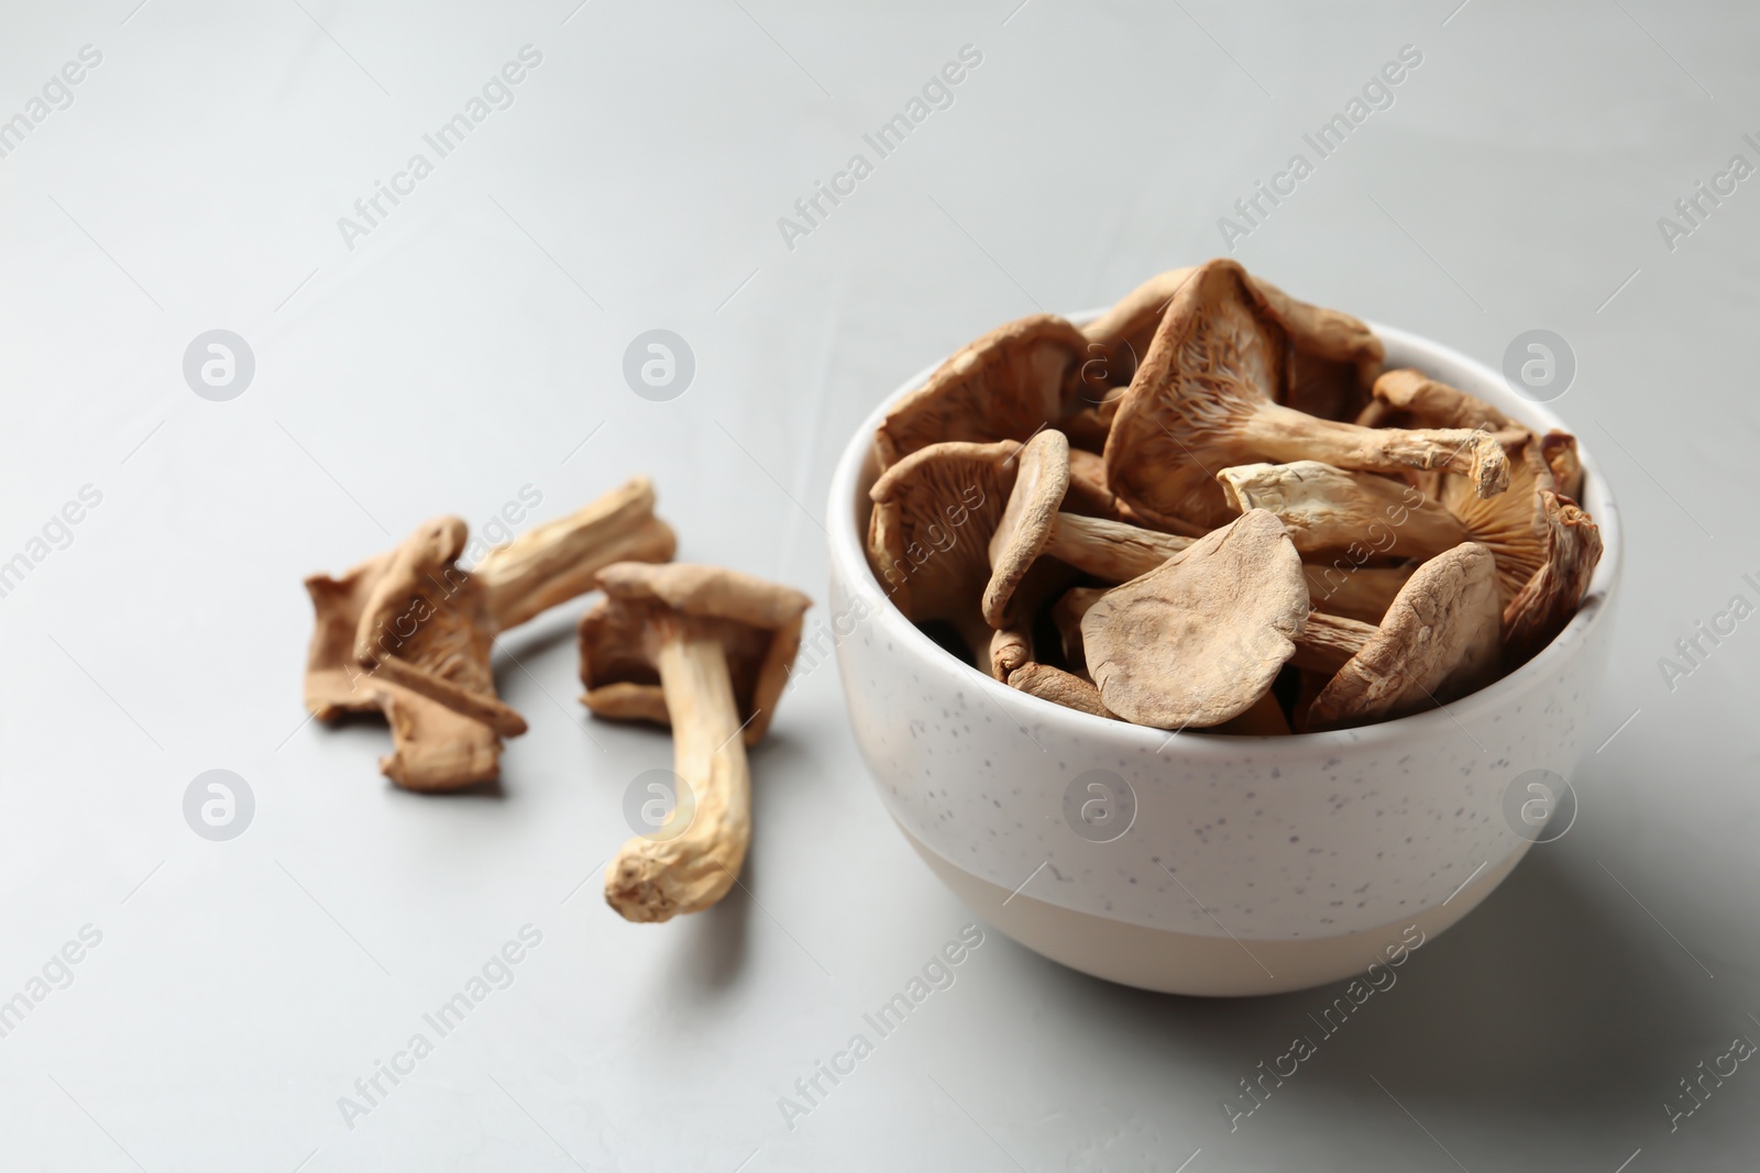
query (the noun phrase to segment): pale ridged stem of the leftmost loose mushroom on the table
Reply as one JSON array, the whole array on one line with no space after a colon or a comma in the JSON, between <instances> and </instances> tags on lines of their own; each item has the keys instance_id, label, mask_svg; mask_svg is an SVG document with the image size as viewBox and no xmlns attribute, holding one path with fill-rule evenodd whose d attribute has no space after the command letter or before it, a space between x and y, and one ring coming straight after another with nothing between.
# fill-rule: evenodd
<instances>
[{"instance_id":1,"label":"pale ridged stem of the leftmost loose mushroom on the table","mask_svg":"<svg viewBox=\"0 0 1760 1173\"><path fill-rule=\"evenodd\" d=\"M567 517L544 522L482 556L472 575L498 630L593 589L611 563L665 563L678 540L655 517L655 487L632 477Z\"/></svg>"}]
</instances>

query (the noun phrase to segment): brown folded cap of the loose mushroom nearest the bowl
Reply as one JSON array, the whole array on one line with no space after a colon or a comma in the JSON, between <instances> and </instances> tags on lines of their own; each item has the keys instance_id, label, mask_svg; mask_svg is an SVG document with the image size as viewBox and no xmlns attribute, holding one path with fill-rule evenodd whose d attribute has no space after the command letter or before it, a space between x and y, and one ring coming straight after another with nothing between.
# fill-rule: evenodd
<instances>
[{"instance_id":1,"label":"brown folded cap of the loose mushroom nearest the bowl","mask_svg":"<svg viewBox=\"0 0 1760 1173\"><path fill-rule=\"evenodd\" d=\"M605 591L581 616L583 702L597 716L671 723L655 659L653 608L690 617L727 654L744 742L769 730L788 668L801 647L801 623L813 601L720 566L616 563L598 572Z\"/></svg>"}]
</instances>

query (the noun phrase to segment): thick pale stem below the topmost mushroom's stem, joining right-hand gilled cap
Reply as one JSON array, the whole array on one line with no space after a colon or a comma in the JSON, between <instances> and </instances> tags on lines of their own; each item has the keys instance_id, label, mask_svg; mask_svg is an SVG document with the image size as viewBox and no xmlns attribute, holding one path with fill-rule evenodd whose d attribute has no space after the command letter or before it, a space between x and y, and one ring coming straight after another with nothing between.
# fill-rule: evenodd
<instances>
[{"instance_id":1,"label":"thick pale stem below the topmost mushroom's stem, joining right-hand gilled cap","mask_svg":"<svg viewBox=\"0 0 1760 1173\"><path fill-rule=\"evenodd\" d=\"M1440 501L1378 473L1290 461L1237 464L1216 473L1216 480L1230 508L1276 514L1302 554L1359 547L1383 556L1431 557L1471 538ZM1383 536L1390 540L1385 547L1380 545Z\"/></svg>"}]
</instances>

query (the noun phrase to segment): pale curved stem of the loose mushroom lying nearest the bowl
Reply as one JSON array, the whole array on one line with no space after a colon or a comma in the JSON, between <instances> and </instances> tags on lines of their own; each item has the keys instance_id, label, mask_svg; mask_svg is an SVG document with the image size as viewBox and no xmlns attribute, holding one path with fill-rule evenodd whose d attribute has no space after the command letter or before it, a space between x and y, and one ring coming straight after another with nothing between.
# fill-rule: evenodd
<instances>
[{"instance_id":1,"label":"pale curved stem of the loose mushroom lying nearest the bowl","mask_svg":"<svg viewBox=\"0 0 1760 1173\"><path fill-rule=\"evenodd\" d=\"M672 772L686 793L653 839L623 844L605 869L605 902L625 920L699 913L734 886L752 842L752 772L720 640L697 623L658 623L655 661L672 721ZM678 830L678 823L688 827Z\"/></svg>"}]
</instances>

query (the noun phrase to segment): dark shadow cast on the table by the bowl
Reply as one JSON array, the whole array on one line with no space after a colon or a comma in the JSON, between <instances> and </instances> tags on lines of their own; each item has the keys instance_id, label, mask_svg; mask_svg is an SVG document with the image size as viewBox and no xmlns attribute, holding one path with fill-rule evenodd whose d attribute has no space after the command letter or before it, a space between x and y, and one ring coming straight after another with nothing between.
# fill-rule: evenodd
<instances>
[{"instance_id":1,"label":"dark shadow cast on the table by the bowl","mask_svg":"<svg viewBox=\"0 0 1760 1173\"><path fill-rule=\"evenodd\" d=\"M1306 1036L1315 1053L1292 1080L1336 1085L1368 1103L1382 1096L1375 1076L1419 1118L1420 1104L1445 1103L1456 1115L1612 1118L1640 1106L1661 1122L1656 1104L1688 1075L1674 1069L1683 1050L1695 1039L1727 1039L1741 1011L1714 997L1721 990L1712 980L1630 897L1596 878L1580 860L1529 853L1482 907L1427 941L1392 987L1332 1034L1315 1018L1343 997L1343 981L1258 999L1190 999L1035 960L1047 983L1081 987L1068 990L1068 1002L1082 1006L1075 1013L1098 1032L1214 1067L1218 1101L1239 1078L1255 1078L1260 1060L1272 1064Z\"/></svg>"}]
</instances>

